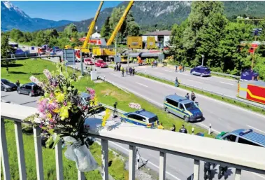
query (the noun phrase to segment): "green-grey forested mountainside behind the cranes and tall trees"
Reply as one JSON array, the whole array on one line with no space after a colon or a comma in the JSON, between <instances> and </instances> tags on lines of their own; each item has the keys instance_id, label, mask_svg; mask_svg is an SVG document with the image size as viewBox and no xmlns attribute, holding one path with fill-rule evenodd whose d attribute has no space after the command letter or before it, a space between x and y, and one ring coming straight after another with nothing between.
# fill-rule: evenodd
<instances>
[{"instance_id":1,"label":"green-grey forested mountainside behind the cranes and tall trees","mask_svg":"<svg viewBox=\"0 0 265 180\"><path fill-rule=\"evenodd\" d=\"M120 6L127 6L129 1L124 1ZM184 21L191 9L192 1L134 1L131 7L131 13L141 29L144 27L171 27L174 23L180 24ZM265 1L224 1L224 13L227 18L238 15L255 16L257 18L265 17ZM96 25L101 28L106 18L111 15L113 8L105 8L99 14ZM79 32L87 32L92 18L81 22L74 22ZM58 27L62 31L65 26Z\"/></svg>"}]
</instances>

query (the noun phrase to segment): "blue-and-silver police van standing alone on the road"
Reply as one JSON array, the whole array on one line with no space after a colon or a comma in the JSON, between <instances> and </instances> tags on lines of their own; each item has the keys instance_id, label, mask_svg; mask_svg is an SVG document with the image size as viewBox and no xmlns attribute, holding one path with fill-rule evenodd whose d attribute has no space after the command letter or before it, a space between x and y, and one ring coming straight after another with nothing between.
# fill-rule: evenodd
<instances>
[{"instance_id":1,"label":"blue-and-silver police van standing alone on the road","mask_svg":"<svg viewBox=\"0 0 265 180\"><path fill-rule=\"evenodd\" d=\"M199 105L185 97L168 95L164 99L164 110L183 118L186 122L204 120Z\"/></svg>"}]
</instances>

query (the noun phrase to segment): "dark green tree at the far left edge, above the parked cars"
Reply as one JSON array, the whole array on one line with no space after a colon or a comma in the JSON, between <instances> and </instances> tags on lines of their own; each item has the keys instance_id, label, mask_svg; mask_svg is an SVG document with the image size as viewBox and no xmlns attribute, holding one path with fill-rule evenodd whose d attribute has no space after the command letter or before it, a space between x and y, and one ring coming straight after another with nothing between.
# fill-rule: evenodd
<instances>
[{"instance_id":1,"label":"dark green tree at the far left edge, above the parked cars","mask_svg":"<svg viewBox=\"0 0 265 180\"><path fill-rule=\"evenodd\" d=\"M15 49L9 46L8 44L8 36L6 34L1 34L1 58L9 58L11 54L15 53ZM1 66L6 67L6 71L8 71L9 64L13 63L14 61L10 60L1 60ZM9 73L9 71L8 71Z\"/></svg>"}]
</instances>

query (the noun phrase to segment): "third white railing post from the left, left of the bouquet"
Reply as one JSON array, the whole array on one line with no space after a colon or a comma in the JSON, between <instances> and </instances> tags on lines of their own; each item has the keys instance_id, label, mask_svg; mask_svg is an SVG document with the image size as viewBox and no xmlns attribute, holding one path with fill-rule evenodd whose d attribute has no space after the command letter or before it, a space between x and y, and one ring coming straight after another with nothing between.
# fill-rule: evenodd
<instances>
[{"instance_id":1,"label":"third white railing post from the left, left of the bouquet","mask_svg":"<svg viewBox=\"0 0 265 180\"><path fill-rule=\"evenodd\" d=\"M44 180L43 176L43 153L41 149L41 128L34 127L34 147L35 147L35 159L36 159L36 171L37 179Z\"/></svg>"}]
</instances>

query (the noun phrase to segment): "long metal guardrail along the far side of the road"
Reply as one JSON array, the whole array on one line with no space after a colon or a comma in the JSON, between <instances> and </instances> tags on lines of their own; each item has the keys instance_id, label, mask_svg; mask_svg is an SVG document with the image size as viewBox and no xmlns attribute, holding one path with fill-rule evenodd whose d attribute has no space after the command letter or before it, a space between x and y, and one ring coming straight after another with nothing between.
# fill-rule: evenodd
<instances>
[{"instance_id":1,"label":"long metal guardrail along the far side of the road","mask_svg":"<svg viewBox=\"0 0 265 180\"><path fill-rule=\"evenodd\" d=\"M139 73L139 72L136 72L136 74ZM160 80L163 80L163 81L170 81L172 83L174 83L174 81L172 79L168 79L168 78L161 78L161 77L158 77L158 76L154 76L152 74L148 74L148 73L145 73L145 72L140 72L141 74L145 74L145 75L148 75L148 76L152 76L154 78L158 78ZM231 97L231 96L228 96L228 95L224 95L224 94L220 94L220 93L217 93L217 92L213 92L211 90L207 90L207 89L204 89L204 88L198 88L198 87L195 87L194 85L187 85L185 83L180 83L181 85L184 85L186 86L187 88L193 88L193 89L196 89L196 90L201 90L202 92L208 92L210 94L213 94L213 95L217 95L217 96L220 96L222 98L227 98L227 99L231 99L233 100L234 102L241 102L243 104L246 104L247 106L255 106L255 107L258 107L260 109L262 109L262 111L265 111L265 105L262 105L262 104L254 104L252 102L246 102L244 101L243 99L239 99L237 97Z\"/></svg>"}]
</instances>

